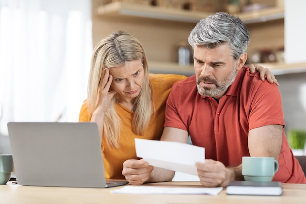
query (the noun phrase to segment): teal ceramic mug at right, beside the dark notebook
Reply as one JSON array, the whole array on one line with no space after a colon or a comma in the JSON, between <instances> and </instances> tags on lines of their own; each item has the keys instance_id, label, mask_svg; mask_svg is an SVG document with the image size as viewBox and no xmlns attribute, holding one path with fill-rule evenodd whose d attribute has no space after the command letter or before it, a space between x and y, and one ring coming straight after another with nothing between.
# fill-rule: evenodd
<instances>
[{"instance_id":1,"label":"teal ceramic mug at right, beside the dark notebook","mask_svg":"<svg viewBox=\"0 0 306 204\"><path fill-rule=\"evenodd\" d=\"M242 157L242 175L245 181L272 181L278 170L274 157Z\"/></svg>"}]
</instances>

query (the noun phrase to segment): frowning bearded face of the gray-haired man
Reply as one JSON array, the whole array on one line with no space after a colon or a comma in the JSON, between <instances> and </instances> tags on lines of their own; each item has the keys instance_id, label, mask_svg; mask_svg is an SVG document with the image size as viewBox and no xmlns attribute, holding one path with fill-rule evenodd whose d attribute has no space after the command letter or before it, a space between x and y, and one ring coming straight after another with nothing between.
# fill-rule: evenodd
<instances>
[{"instance_id":1,"label":"frowning bearded face of the gray-haired man","mask_svg":"<svg viewBox=\"0 0 306 204\"><path fill-rule=\"evenodd\" d=\"M234 82L238 73L229 44L214 49L196 45L194 68L198 92L218 100Z\"/></svg>"}]
</instances>

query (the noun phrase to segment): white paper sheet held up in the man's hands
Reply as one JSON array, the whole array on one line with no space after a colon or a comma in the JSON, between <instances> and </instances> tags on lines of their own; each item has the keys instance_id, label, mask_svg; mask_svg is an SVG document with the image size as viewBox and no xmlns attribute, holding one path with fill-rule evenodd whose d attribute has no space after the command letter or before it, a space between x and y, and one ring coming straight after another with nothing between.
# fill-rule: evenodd
<instances>
[{"instance_id":1,"label":"white paper sheet held up in the man's hands","mask_svg":"<svg viewBox=\"0 0 306 204\"><path fill-rule=\"evenodd\" d=\"M205 148L190 144L135 139L137 157L152 166L197 176L196 162L205 162Z\"/></svg>"}]
</instances>

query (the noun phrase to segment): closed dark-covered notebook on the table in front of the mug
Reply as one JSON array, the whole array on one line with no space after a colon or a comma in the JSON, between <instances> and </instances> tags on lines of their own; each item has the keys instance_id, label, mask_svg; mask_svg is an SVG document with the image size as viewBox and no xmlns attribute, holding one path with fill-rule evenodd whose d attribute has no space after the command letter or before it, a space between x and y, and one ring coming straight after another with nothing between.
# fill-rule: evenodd
<instances>
[{"instance_id":1,"label":"closed dark-covered notebook on the table in front of the mug","mask_svg":"<svg viewBox=\"0 0 306 204\"><path fill-rule=\"evenodd\" d=\"M280 196L283 193L281 182L231 181L226 187L229 195Z\"/></svg>"}]
</instances>

